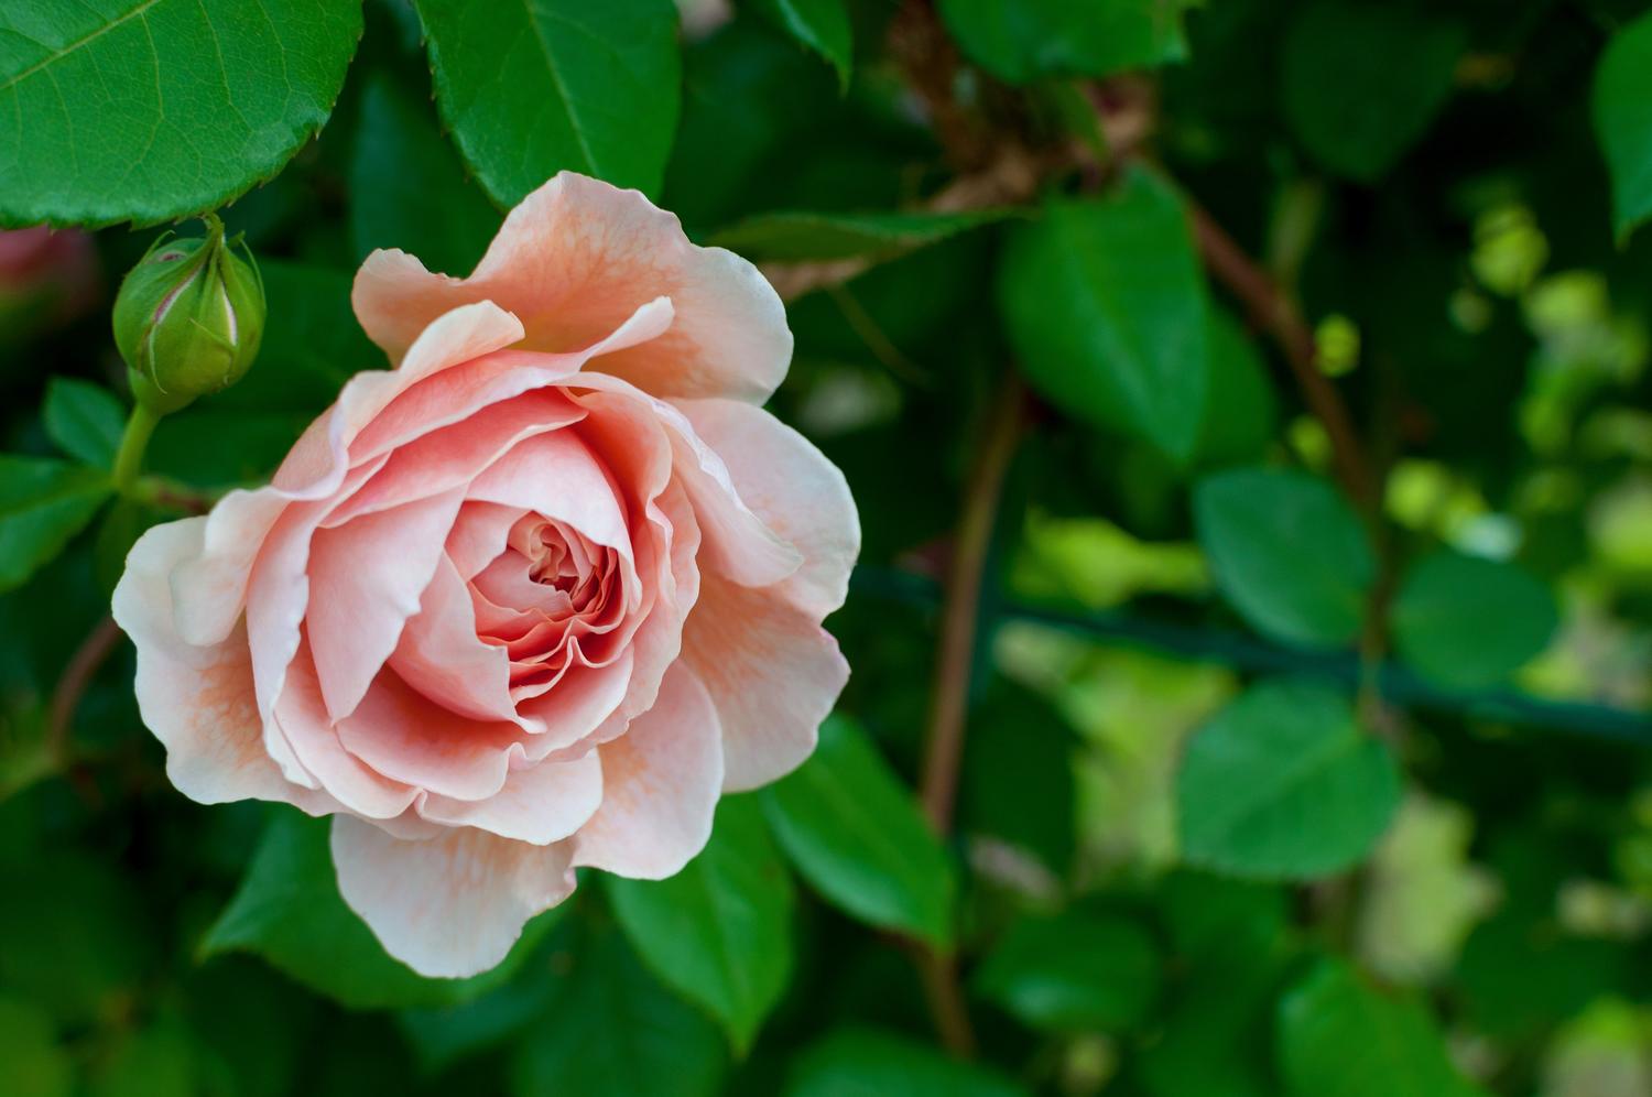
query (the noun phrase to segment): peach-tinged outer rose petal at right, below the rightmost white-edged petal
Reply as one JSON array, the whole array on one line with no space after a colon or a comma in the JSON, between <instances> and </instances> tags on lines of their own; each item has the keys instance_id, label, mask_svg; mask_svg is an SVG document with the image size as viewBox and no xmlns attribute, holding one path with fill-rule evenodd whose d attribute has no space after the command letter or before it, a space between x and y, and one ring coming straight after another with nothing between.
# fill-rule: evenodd
<instances>
[{"instance_id":1,"label":"peach-tinged outer rose petal at right, below the rightmost white-edged petal","mask_svg":"<svg viewBox=\"0 0 1652 1097\"><path fill-rule=\"evenodd\" d=\"M717 705L724 791L778 780L814 750L849 664L819 618L776 588L700 577L700 601L682 633L682 661Z\"/></svg>"}]
</instances>

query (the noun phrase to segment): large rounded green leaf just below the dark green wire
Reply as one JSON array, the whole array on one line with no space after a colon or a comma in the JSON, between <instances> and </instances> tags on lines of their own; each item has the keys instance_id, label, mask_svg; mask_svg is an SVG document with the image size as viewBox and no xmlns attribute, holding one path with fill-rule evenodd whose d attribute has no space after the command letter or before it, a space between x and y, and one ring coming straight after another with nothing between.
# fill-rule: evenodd
<instances>
[{"instance_id":1,"label":"large rounded green leaf just below the dark green wire","mask_svg":"<svg viewBox=\"0 0 1652 1097\"><path fill-rule=\"evenodd\" d=\"M1176 775L1181 854L1264 879L1310 879L1365 857L1399 805L1388 745L1325 686L1264 682L1188 743Z\"/></svg>"}]
</instances>

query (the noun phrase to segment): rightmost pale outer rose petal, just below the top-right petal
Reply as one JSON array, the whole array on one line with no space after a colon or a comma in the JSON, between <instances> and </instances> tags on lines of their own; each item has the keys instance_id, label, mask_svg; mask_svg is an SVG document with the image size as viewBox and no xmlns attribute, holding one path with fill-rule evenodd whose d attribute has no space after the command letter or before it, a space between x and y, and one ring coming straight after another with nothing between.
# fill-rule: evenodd
<instances>
[{"instance_id":1,"label":"rightmost pale outer rose petal, just below the top-right petal","mask_svg":"<svg viewBox=\"0 0 1652 1097\"><path fill-rule=\"evenodd\" d=\"M803 567L780 583L786 596L818 616L841 606L861 555L861 517L838 466L762 408L737 400L677 406L729 466L740 499L803 553Z\"/></svg>"}]
</instances>

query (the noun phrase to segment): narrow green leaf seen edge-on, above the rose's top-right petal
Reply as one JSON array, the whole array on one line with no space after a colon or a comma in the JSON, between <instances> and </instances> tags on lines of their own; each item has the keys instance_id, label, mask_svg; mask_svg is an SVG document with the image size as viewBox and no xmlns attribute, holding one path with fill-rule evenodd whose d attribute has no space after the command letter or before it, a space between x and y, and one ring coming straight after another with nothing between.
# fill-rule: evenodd
<instances>
[{"instance_id":1,"label":"narrow green leaf seen edge-on, above the rose's top-right petal","mask_svg":"<svg viewBox=\"0 0 1652 1097\"><path fill-rule=\"evenodd\" d=\"M758 213L712 233L709 245L738 251L753 263L768 259L892 259L981 225L1014 216L1014 210L963 213Z\"/></svg>"}]
</instances>

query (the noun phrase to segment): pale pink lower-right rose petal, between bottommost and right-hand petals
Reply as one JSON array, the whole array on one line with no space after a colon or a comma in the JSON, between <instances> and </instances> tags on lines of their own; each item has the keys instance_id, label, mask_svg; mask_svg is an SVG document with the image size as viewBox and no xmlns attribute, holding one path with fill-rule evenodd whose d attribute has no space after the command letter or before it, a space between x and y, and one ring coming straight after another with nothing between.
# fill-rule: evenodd
<instances>
[{"instance_id":1,"label":"pale pink lower-right rose petal, between bottommost and right-hand petals","mask_svg":"<svg viewBox=\"0 0 1652 1097\"><path fill-rule=\"evenodd\" d=\"M666 671L654 707L600 748L603 803L575 836L575 864L657 881L705 848L722 790L722 734L699 679Z\"/></svg>"}]
</instances>

